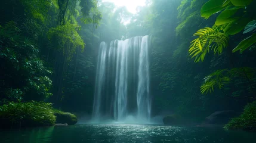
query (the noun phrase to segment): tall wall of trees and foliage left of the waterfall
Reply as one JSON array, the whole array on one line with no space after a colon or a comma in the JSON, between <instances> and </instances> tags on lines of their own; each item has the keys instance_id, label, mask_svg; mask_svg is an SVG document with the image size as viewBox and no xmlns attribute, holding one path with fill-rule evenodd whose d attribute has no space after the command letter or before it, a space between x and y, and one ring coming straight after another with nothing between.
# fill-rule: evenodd
<instances>
[{"instance_id":1,"label":"tall wall of trees and foliage left of the waterfall","mask_svg":"<svg viewBox=\"0 0 256 143\"><path fill-rule=\"evenodd\" d=\"M11 0L4 1L0 11L0 58L1 69L4 69L0 78L1 104L48 100L62 107L61 101L70 96L66 91L70 85L64 80L69 73L76 75L81 70L73 69L73 61L79 57L76 55L81 55L81 61L86 60L82 66L94 64L90 58L94 52L89 51L88 57L83 54L87 51L86 43L90 45L91 34L82 35L80 31L81 28L91 30L87 26L90 23L94 29L100 24L102 17L97 1ZM88 74L78 75L87 79ZM80 87L81 91L87 88ZM90 85L90 88L93 87ZM74 96L78 100L84 95Z\"/></svg>"}]
</instances>

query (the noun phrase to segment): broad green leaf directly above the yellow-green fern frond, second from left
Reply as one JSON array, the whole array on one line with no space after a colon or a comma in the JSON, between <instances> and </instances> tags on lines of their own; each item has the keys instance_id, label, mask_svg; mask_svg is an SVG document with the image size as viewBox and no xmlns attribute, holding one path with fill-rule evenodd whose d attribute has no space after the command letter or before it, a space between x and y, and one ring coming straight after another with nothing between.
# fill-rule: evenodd
<instances>
[{"instance_id":1,"label":"broad green leaf directly above the yellow-green fern frond, second from left","mask_svg":"<svg viewBox=\"0 0 256 143\"><path fill-rule=\"evenodd\" d=\"M238 20L240 17L235 17L235 14L240 8L243 7L228 6L226 10L222 11L220 15L218 15L215 24L223 25Z\"/></svg>"}]
</instances>

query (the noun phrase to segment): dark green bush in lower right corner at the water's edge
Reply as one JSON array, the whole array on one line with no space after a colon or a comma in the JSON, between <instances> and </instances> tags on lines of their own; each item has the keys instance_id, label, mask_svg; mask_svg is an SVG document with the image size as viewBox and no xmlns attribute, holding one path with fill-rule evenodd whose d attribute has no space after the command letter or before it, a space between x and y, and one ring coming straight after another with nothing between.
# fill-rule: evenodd
<instances>
[{"instance_id":1,"label":"dark green bush in lower right corner at the water's edge","mask_svg":"<svg viewBox=\"0 0 256 143\"><path fill-rule=\"evenodd\" d=\"M246 105L243 113L231 119L224 129L256 130L256 101Z\"/></svg>"}]
</instances>

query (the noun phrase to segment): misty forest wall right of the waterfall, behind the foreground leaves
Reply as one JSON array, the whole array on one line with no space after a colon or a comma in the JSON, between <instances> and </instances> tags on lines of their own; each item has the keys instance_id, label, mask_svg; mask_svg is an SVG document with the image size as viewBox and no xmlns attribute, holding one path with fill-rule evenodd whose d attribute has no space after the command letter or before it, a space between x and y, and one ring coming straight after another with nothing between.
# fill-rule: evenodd
<instances>
[{"instance_id":1,"label":"misty forest wall right of the waterfall, behind the foreground leaves","mask_svg":"<svg viewBox=\"0 0 256 143\"><path fill-rule=\"evenodd\" d=\"M193 34L203 27L214 26L218 17L218 15L212 15L207 20L201 17L201 7L206 2L208 0L152 1L149 30L152 34L151 72L153 76L150 81L152 81L152 94L155 97L153 104L158 107L156 112L167 110L189 117L194 117L196 114L203 120L205 116L217 110L241 110L246 103L246 98L227 97L221 91L216 91L212 95L201 94L203 78L209 73L218 69L250 67L251 62L255 60L253 58L255 52L246 52L244 53L246 56L232 55L229 46L238 44L239 40L245 37L241 33L229 37L229 42L226 37L226 39L223 38L223 48L216 48L214 52L203 57L203 63L195 64L194 60L190 59L198 52L196 49L189 51L190 42L195 39ZM251 24L253 25L252 22ZM220 38L222 29L217 27L214 30L213 28L212 32L217 30L219 33L215 38ZM200 32L205 31L202 29ZM195 35L199 36L200 32ZM199 45L199 43L196 44ZM225 49L224 46L228 48ZM198 46L199 50L200 48L201 46ZM214 55L214 53L220 55ZM190 54L192 54L191 57ZM196 60L202 59L196 57ZM253 81L254 79L251 79L252 84L254 84ZM243 88L249 88L248 84L242 88L245 83L245 80L235 78L229 86L225 86L225 92L230 96L232 96L231 92L233 95L247 97L248 93L241 92L244 91ZM238 87L242 90L236 90Z\"/></svg>"}]
</instances>

